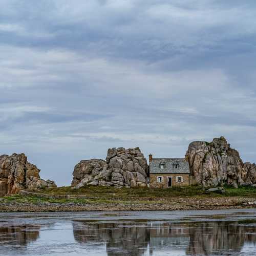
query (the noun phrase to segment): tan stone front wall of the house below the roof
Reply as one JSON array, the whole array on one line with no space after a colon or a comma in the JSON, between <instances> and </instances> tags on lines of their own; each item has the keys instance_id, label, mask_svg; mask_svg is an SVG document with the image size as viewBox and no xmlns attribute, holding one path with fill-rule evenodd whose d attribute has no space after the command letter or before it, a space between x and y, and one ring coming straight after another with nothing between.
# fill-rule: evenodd
<instances>
[{"instance_id":1,"label":"tan stone front wall of the house below the roof","mask_svg":"<svg viewBox=\"0 0 256 256\"><path fill-rule=\"evenodd\" d=\"M157 182L157 177L163 177L163 182ZM168 178L172 177L172 186L188 186L189 174L150 174L150 186L151 187L168 187ZM183 182L176 182L176 177L183 177Z\"/></svg>"}]
</instances>

